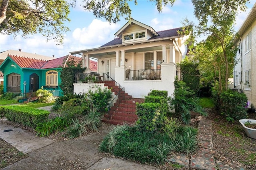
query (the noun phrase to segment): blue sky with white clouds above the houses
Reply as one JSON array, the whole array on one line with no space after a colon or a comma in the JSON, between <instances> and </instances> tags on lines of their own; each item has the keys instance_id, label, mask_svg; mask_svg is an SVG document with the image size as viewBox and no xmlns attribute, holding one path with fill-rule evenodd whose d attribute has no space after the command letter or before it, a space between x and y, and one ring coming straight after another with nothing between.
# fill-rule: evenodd
<instances>
[{"instance_id":1,"label":"blue sky with white clouds above the houses","mask_svg":"<svg viewBox=\"0 0 256 170\"><path fill-rule=\"evenodd\" d=\"M133 1L130 2L132 18L151 26L156 32L182 27L181 22L185 18L196 23L191 0L176 0L173 6L164 7L161 13L157 11L153 2L148 0L137 0L137 2L138 5L134 5ZM250 0L246 12L238 14L235 31L240 28L255 2L256 0ZM81 3L82 0L76 0L76 8L70 7L71 22L65 23L70 31L64 33L63 45L56 45L53 40L46 42L46 38L40 34L30 35L28 38L22 38L20 35L14 38L13 35L0 34L0 52L22 49L28 53L63 57L72 51L96 48L110 42L114 39L114 34L127 22L124 18L120 18L120 22L111 24L104 18L96 18L92 12L84 11Z\"/></svg>"}]
</instances>

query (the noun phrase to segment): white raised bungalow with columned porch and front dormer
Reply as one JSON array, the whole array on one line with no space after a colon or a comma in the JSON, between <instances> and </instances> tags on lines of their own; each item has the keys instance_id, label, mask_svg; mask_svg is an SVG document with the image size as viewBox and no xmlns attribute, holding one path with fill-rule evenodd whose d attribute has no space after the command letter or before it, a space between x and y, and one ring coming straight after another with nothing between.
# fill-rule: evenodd
<instances>
[{"instance_id":1,"label":"white raised bungalow with columned porch and front dormer","mask_svg":"<svg viewBox=\"0 0 256 170\"><path fill-rule=\"evenodd\" d=\"M98 59L99 79L116 81L132 97L144 98L153 89L166 90L172 95L174 79L181 77L176 63L180 63L188 50L189 35L179 35L177 31L182 28L156 32L132 19L116 32L114 40L98 48L70 53L82 55L84 66L89 65L86 59Z\"/></svg>"}]
</instances>

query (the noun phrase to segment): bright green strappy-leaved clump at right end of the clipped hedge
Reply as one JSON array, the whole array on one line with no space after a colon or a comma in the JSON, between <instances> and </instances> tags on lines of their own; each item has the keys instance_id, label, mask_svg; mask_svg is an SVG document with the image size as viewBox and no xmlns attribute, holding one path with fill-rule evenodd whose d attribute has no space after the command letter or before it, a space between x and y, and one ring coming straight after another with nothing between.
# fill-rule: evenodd
<instances>
[{"instance_id":1,"label":"bright green strappy-leaved clump at right end of the clipped hedge","mask_svg":"<svg viewBox=\"0 0 256 170\"><path fill-rule=\"evenodd\" d=\"M62 132L66 127L68 127L67 120L63 117L56 117L48 122L38 123L35 131L37 132L36 135L43 137L54 132Z\"/></svg>"}]
</instances>

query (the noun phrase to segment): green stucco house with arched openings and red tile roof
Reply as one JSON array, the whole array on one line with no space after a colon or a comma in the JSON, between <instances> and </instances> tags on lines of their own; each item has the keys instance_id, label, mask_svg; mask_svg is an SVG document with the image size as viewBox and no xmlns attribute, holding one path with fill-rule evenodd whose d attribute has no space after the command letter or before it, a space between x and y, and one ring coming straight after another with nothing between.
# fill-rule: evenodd
<instances>
[{"instance_id":1,"label":"green stucco house with arched openings and red tile roof","mask_svg":"<svg viewBox=\"0 0 256 170\"><path fill-rule=\"evenodd\" d=\"M4 73L4 92L28 93L43 87L50 90L55 97L62 94L60 89L61 67L70 59L81 61L81 57L66 55L52 60L42 60L17 55L8 55L0 65ZM94 62L94 61L92 61ZM96 63L96 62L94 62ZM92 67L92 70L96 70Z\"/></svg>"}]
</instances>

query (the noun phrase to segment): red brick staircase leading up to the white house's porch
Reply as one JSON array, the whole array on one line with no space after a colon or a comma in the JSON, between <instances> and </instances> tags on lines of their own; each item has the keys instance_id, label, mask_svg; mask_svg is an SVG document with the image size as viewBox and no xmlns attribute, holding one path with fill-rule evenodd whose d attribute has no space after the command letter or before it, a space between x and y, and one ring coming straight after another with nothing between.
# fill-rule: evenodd
<instances>
[{"instance_id":1,"label":"red brick staircase leading up to the white house's porch","mask_svg":"<svg viewBox=\"0 0 256 170\"><path fill-rule=\"evenodd\" d=\"M138 116L135 114L136 103L143 103L144 99L132 98L128 93L120 92L121 88L115 85L115 81L105 82L104 85L111 89L115 95L118 95L118 93L120 95L118 95L116 103L110 108L108 114L104 115L102 121L113 125L123 125L124 123L134 125L138 120Z\"/></svg>"}]
</instances>

